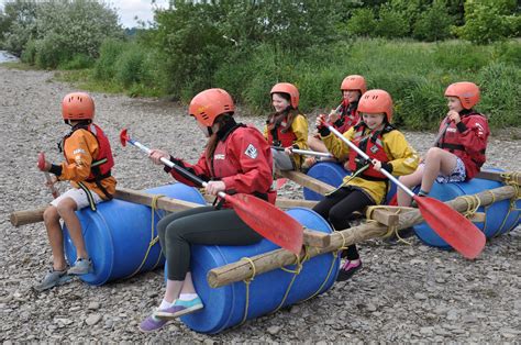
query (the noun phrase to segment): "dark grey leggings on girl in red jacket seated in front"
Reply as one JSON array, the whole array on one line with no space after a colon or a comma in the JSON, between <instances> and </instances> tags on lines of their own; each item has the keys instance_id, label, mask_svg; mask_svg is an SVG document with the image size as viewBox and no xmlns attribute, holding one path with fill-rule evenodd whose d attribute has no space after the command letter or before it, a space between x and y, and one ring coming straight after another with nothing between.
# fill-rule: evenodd
<instances>
[{"instance_id":1,"label":"dark grey leggings on girl in red jacket seated in front","mask_svg":"<svg viewBox=\"0 0 521 345\"><path fill-rule=\"evenodd\" d=\"M263 237L232 209L196 208L168 214L157 223L169 280L185 280L190 270L190 244L251 245Z\"/></svg>"}]
</instances>

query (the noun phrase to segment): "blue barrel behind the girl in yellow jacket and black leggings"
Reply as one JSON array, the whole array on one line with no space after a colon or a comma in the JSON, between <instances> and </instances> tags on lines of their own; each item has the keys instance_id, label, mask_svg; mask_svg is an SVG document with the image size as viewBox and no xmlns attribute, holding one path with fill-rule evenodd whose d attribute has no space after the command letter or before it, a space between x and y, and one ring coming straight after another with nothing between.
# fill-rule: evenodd
<instances>
[{"instance_id":1,"label":"blue barrel behind the girl in yellow jacket and black leggings","mask_svg":"<svg viewBox=\"0 0 521 345\"><path fill-rule=\"evenodd\" d=\"M331 185L333 187L339 187L344 177L350 174L348 170L344 169L344 166L334 162L322 162L313 165L309 171L308 176L315 178L322 182ZM386 203L395 197L396 194L396 185L389 181L389 191L387 192ZM312 191L311 189L304 188L303 196L306 200L317 200L320 201L324 199L324 196Z\"/></svg>"}]
</instances>

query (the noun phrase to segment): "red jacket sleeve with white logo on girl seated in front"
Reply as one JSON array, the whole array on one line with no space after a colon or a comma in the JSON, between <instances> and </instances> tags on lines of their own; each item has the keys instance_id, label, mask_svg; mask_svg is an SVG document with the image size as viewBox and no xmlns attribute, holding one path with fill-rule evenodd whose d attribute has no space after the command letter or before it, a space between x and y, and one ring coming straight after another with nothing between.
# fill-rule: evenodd
<instances>
[{"instance_id":1,"label":"red jacket sleeve with white logo on girl seated in front","mask_svg":"<svg viewBox=\"0 0 521 345\"><path fill-rule=\"evenodd\" d=\"M248 194L267 192L273 183L273 157L260 132L246 127L235 131L229 140L232 142L228 154L239 163L241 172L222 179L226 190Z\"/></svg>"}]
</instances>

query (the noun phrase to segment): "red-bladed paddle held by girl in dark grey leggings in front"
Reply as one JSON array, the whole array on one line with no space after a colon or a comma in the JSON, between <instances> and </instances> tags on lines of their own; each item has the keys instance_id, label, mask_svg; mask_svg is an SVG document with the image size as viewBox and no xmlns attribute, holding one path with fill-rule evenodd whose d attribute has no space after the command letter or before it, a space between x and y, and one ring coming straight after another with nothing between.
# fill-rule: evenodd
<instances>
[{"instance_id":1,"label":"red-bladed paddle held by girl in dark grey leggings in front","mask_svg":"<svg viewBox=\"0 0 521 345\"><path fill-rule=\"evenodd\" d=\"M126 143L131 143L146 154L151 153L148 147L132 140L126 133L126 129L121 131L120 141L123 146L126 146ZM160 162L164 165L176 169L176 171L182 175L182 177L199 186L206 187L208 185L196 175L176 165L169 159L162 157ZM302 249L303 229L302 225L290 215L277 209L269 202L250 194L237 193L230 196L220 191L218 196L230 202L243 222L254 231L282 248L297 255L300 254L300 251Z\"/></svg>"}]
</instances>

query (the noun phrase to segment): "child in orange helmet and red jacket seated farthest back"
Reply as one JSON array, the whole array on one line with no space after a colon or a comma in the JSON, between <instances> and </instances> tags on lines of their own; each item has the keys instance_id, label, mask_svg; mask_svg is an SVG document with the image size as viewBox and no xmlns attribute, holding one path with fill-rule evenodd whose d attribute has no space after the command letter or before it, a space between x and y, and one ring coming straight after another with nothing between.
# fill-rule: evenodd
<instances>
[{"instance_id":1,"label":"child in orange helmet and red jacket seated farthest back","mask_svg":"<svg viewBox=\"0 0 521 345\"><path fill-rule=\"evenodd\" d=\"M331 111L326 121L340 133L345 133L359 121L356 109L358 108L358 101L362 94L367 91L365 78L358 75L347 76L342 81L340 90L342 91L342 103L340 103L335 110ZM328 152L324 143L320 140L320 135L310 135L308 137L308 145L312 151ZM309 169L315 163L315 157L308 157L302 164L302 168Z\"/></svg>"}]
</instances>

